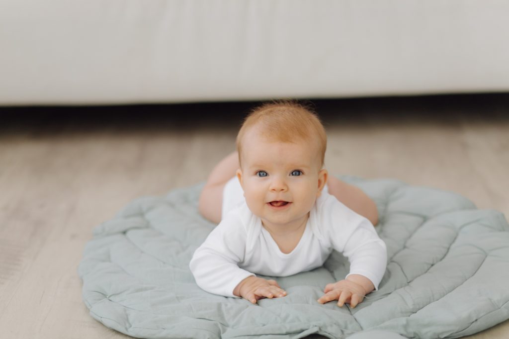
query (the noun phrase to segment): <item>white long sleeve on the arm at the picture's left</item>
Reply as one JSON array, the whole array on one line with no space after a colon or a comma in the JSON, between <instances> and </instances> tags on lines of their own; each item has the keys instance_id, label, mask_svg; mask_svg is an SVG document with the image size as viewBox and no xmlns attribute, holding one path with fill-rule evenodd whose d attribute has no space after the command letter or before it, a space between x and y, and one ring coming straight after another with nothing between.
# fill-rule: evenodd
<instances>
[{"instance_id":1,"label":"white long sleeve on the arm at the picture's left","mask_svg":"<svg viewBox=\"0 0 509 339\"><path fill-rule=\"evenodd\" d=\"M246 232L236 213L230 213L196 249L189 263L196 284L204 291L227 297L251 272L239 268L243 261Z\"/></svg>"}]
</instances>

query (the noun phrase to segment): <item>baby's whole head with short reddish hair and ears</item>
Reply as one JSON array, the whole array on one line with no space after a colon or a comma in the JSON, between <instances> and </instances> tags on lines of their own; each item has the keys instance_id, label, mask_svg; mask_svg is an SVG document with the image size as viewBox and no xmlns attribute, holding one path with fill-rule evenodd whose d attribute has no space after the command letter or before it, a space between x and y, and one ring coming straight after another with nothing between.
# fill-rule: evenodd
<instances>
[{"instance_id":1,"label":"baby's whole head with short reddish hair and ears","mask_svg":"<svg viewBox=\"0 0 509 339\"><path fill-rule=\"evenodd\" d=\"M237 136L237 177L251 212L264 225L305 222L327 171L325 130L306 107L279 101L255 108Z\"/></svg>"}]
</instances>

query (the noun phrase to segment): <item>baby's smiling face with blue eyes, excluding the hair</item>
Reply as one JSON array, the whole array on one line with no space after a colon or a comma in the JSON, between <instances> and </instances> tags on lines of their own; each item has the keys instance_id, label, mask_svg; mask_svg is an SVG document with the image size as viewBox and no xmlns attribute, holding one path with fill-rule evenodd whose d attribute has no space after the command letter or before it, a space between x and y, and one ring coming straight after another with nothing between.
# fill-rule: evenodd
<instances>
[{"instance_id":1,"label":"baby's smiling face with blue eyes, excluding the hair","mask_svg":"<svg viewBox=\"0 0 509 339\"><path fill-rule=\"evenodd\" d=\"M307 220L327 180L313 140L281 143L256 130L242 140L237 172L246 203L266 227L292 227Z\"/></svg>"}]
</instances>

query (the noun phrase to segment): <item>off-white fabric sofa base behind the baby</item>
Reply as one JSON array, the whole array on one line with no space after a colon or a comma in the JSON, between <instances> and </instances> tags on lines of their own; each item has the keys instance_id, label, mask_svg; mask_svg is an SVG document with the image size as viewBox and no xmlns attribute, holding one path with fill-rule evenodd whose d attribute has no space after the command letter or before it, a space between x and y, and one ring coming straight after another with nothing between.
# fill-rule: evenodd
<instances>
[{"instance_id":1,"label":"off-white fabric sofa base behind the baby","mask_svg":"<svg viewBox=\"0 0 509 339\"><path fill-rule=\"evenodd\" d=\"M0 105L509 90L504 0L0 0Z\"/></svg>"}]
</instances>

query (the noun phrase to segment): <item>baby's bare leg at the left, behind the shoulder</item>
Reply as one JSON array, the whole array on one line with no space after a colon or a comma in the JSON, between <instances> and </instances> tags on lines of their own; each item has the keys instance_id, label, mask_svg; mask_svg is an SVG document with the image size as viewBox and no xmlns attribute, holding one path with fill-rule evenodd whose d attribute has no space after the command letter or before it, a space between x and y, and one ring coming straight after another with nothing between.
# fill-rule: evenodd
<instances>
[{"instance_id":1,"label":"baby's bare leg at the left, behind the shoulder","mask_svg":"<svg viewBox=\"0 0 509 339\"><path fill-rule=\"evenodd\" d=\"M233 152L222 159L210 173L198 201L200 213L210 221L221 221L222 191L228 180L235 177L238 168L239 156Z\"/></svg>"}]
</instances>

